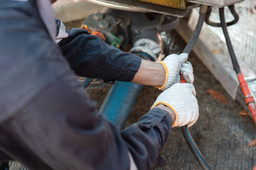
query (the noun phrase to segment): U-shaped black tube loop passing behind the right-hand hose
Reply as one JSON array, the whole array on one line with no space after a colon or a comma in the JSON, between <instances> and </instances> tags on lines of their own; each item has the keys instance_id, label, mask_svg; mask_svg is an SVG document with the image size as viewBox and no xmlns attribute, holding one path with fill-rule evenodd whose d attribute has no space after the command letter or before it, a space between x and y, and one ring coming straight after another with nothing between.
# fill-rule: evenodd
<instances>
[{"instance_id":1,"label":"U-shaped black tube loop passing behind the right-hand hose","mask_svg":"<svg viewBox=\"0 0 256 170\"><path fill-rule=\"evenodd\" d=\"M232 15L234 17L233 21L227 23L227 26L230 26L230 25L234 25L238 22L239 15L235 10L235 5L229 5L228 8L229 8L230 12L232 13ZM206 17L205 17L205 23L207 23L208 25L211 25L213 27L221 27L221 23L213 23L213 22L210 21L210 19L209 19L210 15L211 15L211 7L208 7L208 12L207 12Z\"/></svg>"}]
</instances>

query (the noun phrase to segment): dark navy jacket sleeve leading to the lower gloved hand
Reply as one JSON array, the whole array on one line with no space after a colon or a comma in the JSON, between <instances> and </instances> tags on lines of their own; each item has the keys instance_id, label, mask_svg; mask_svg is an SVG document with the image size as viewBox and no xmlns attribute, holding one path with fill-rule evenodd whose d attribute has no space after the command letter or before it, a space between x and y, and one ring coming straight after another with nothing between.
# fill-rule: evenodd
<instances>
[{"instance_id":1,"label":"dark navy jacket sleeve leading to the lower gloved hand","mask_svg":"<svg viewBox=\"0 0 256 170\"><path fill-rule=\"evenodd\" d=\"M159 153L172 128L172 118L160 108L150 110L141 119L121 132L138 170L159 165Z\"/></svg>"}]
</instances>

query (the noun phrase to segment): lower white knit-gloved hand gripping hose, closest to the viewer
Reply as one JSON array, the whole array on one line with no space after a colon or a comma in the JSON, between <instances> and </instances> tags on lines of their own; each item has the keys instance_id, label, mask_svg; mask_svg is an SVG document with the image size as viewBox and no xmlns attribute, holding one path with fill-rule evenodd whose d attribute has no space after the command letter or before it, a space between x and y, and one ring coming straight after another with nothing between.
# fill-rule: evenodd
<instances>
[{"instance_id":1,"label":"lower white knit-gloved hand gripping hose, closest to the viewer","mask_svg":"<svg viewBox=\"0 0 256 170\"><path fill-rule=\"evenodd\" d=\"M164 104L172 109L176 115L176 120L172 127L194 125L199 116L197 99L195 97L195 87L189 83L176 83L169 89L162 92L154 102Z\"/></svg>"}]
</instances>

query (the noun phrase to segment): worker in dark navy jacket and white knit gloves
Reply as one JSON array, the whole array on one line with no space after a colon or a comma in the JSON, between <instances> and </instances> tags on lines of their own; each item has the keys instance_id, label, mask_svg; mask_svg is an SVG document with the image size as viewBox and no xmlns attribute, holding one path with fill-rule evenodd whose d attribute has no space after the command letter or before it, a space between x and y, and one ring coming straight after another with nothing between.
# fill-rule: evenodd
<instances>
[{"instance_id":1,"label":"worker in dark navy jacket and white knit gloves","mask_svg":"<svg viewBox=\"0 0 256 170\"><path fill-rule=\"evenodd\" d=\"M85 30L65 30L50 0L0 0L0 52L0 160L30 170L148 170L159 164L171 128L197 121L187 54L151 62ZM188 83L179 83L179 72ZM119 131L76 75L164 91Z\"/></svg>"}]
</instances>

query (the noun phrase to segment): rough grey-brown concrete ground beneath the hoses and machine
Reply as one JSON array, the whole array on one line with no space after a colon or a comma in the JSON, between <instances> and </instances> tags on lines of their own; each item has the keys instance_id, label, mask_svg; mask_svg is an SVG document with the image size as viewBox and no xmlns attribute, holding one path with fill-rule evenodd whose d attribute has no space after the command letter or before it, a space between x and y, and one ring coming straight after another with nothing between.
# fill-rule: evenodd
<instances>
[{"instance_id":1,"label":"rough grey-brown concrete ground beneath the hoses and machine","mask_svg":"<svg viewBox=\"0 0 256 170\"><path fill-rule=\"evenodd\" d=\"M67 28L77 28L81 23L82 20L79 20L66 25ZM162 37L166 54L180 53L185 47L184 41L175 31L164 32ZM256 163L256 146L248 147L248 143L256 138L255 125L250 117L238 115L243 108L229 97L195 54L189 55L189 61L194 67L194 84L200 109L200 117L190 128L190 132L198 148L212 170L251 170ZM107 87L87 90L87 92L100 106L109 87L110 85L107 85ZM210 97L205 92L209 89L220 92L227 99L228 105ZM144 86L135 102L127 126L145 114L160 93L161 91L154 87ZM169 139L161 150L161 156L166 159L168 165L156 168L157 170L200 169L184 141L180 128L172 129ZM12 162L10 167L10 170L26 169L17 162Z\"/></svg>"}]
</instances>

